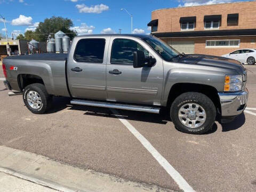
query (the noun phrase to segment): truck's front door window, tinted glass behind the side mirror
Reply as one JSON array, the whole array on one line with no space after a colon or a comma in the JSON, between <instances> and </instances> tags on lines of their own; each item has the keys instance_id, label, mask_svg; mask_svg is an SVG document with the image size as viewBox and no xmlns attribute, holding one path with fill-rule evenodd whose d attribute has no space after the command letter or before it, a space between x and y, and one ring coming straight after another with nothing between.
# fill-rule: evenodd
<instances>
[{"instance_id":1,"label":"truck's front door window, tinted glass behind the side mirror","mask_svg":"<svg viewBox=\"0 0 256 192\"><path fill-rule=\"evenodd\" d=\"M139 43L130 39L115 39L111 50L111 64L130 64L133 65L133 52L143 51L145 56L149 52Z\"/></svg>"}]
</instances>

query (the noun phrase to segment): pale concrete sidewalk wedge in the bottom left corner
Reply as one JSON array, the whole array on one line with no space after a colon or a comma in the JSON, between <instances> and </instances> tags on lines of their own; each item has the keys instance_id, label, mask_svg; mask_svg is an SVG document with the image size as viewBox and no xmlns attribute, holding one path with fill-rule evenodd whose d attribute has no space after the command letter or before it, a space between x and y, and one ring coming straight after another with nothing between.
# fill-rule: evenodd
<instances>
[{"instance_id":1,"label":"pale concrete sidewalk wedge in the bottom left corner","mask_svg":"<svg viewBox=\"0 0 256 192\"><path fill-rule=\"evenodd\" d=\"M0 172L0 191L1 192L56 192L54 189L37 185L36 183L29 182L6 173Z\"/></svg>"}]
</instances>

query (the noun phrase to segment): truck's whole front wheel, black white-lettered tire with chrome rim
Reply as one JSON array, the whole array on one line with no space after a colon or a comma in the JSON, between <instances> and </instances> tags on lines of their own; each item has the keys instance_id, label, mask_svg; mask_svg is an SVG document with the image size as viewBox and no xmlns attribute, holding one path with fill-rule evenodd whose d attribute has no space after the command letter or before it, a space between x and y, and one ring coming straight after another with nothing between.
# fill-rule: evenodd
<instances>
[{"instance_id":1,"label":"truck's whole front wheel, black white-lettered tire with chrome rim","mask_svg":"<svg viewBox=\"0 0 256 192\"><path fill-rule=\"evenodd\" d=\"M175 128L190 134L203 134L211 130L216 113L212 100L198 92L179 95L170 109Z\"/></svg>"}]
</instances>

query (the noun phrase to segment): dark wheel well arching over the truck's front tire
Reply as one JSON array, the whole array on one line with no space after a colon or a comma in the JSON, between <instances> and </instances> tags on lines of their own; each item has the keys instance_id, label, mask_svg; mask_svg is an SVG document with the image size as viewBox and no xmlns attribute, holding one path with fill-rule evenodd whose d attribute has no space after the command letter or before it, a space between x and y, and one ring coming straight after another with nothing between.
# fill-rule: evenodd
<instances>
[{"instance_id":1,"label":"dark wheel well arching over the truck's front tire","mask_svg":"<svg viewBox=\"0 0 256 192\"><path fill-rule=\"evenodd\" d=\"M203 84L177 83L173 85L169 93L167 106L170 107L175 98L186 92L198 92L205 94L212 100L215 107L217 108L217 111L219 110L221 113L220 98L217 89L215 89L213 86Z\"/></svg>"}]
</instances>

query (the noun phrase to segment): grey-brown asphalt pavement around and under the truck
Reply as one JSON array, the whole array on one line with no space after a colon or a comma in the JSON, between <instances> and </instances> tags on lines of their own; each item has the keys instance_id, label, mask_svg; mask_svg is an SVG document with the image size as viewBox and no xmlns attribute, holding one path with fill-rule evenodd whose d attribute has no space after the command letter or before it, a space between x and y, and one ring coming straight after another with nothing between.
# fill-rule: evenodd
<instances>
[{"instance_id":1,"label":"grey-brown asphalt pavement around and under the truck","mask_svg":"<svg viewBox=\"0 0 256 192\"><path fill-rule=\"evenodd\" d=\"M246 68L251 109L204 135L181 133L161 115L73 106L68 98L54 98L53 110L35 115L0 81L0 145L181 191L120 121L126 119L194 190L256 191L256 66Z\"/></svg>"}]
</instances>

